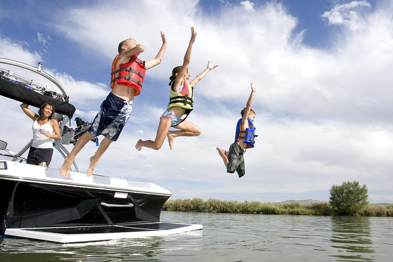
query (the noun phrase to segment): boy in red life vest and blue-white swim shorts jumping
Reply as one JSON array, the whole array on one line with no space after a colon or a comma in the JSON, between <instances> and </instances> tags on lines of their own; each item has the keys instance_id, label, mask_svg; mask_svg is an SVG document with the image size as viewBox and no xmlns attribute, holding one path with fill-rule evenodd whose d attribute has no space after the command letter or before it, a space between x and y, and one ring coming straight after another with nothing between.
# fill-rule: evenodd
<instances>
[{"instance_id":1,"label":"boy in red life vest and blue-white swim shorts jumping","mask_svg":"<svg viewBox=\"0 0 393 262\"><path fill-rule=\"evenodd\" d=\"M68 177L70 167L83 146L98 135L103 135L105 138L101 141L96 154L90 158L90 166L86 172L88 177L93 174L98 160L109 145L119 138L127 123L133 108L134 96L141 92L145 70L161 63L166 49L166 39L162 32L161 38L162 46L156 58L147 62L138 59L138 55L145 51L145 48L135 39L128 38L119 43L119 55L112 63L112 91L102 102L101 111L94 118L88 132L78 139L70 155L64 159L60 169L61 176Z\"/></svg>"}]
</instances>

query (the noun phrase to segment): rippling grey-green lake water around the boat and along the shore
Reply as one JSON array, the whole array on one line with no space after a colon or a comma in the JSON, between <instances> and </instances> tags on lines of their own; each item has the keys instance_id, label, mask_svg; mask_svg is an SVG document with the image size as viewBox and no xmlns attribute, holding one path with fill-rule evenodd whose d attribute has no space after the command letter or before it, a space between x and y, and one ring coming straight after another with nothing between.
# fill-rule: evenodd
<instances>
[{"instance_id":1,"label":"rippling grey-green lake water around the boat and along the shore","mask_svg":"<svg viewBox=\"0 0 393 262\"><path fill-rule=\"evenodd\" d=\"M67 245L5 237L0 261L393 261L393 217L163 211L161 221L204 229Z\"/></svg>"}]
</instances>

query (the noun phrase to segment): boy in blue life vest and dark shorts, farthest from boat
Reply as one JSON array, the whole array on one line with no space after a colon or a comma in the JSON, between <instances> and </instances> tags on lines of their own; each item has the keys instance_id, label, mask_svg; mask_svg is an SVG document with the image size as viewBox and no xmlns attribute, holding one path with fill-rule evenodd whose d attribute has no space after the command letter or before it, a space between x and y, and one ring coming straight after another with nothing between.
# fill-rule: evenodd
<instances>
[{"instance_id":1,"label":"boy in blue life vest and dark shorts, farthest from boat","mask_svg":"<svg viewBox=\"0 0 393 262\"><path fill-rule=\"evenodd\" d=\"M247 106L242 110L242 118L236 124L235 142L230 145L229 151L217 147L219 155L227 167L227 173L237 172L239 178L246 173L244 166L244 151L253 148L255 143L255 112L251 109L252 99L255 93L254 83L251 83L251 94L247 101Z\"/></svg>"}]
</instances>

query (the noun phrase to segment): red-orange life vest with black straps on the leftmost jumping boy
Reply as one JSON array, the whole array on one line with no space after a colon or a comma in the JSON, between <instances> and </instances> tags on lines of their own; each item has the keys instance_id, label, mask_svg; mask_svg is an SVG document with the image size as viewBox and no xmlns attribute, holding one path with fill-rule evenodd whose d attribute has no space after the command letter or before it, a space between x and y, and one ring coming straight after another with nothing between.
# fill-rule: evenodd
<instances>
[{"instance_id":1,"label":"red-orange life vest with black straps on the leftmost jumping boy","mask_svg":"<svg viewBox=\"0 0 393 262\"><path fill-rule=\"evenodd\" d=\"M145 61L138 59L136 55L129 58L128 62L119 64L119 69L116 70L116 62L119 55L115 57L112 62L112 73L111 73L111 88L115 84L121 84L129 86L135 89L135 96L141 93L143 77L145 76ZM118 74L117 77L115 75Z\"/></svg>"}]
</instances>

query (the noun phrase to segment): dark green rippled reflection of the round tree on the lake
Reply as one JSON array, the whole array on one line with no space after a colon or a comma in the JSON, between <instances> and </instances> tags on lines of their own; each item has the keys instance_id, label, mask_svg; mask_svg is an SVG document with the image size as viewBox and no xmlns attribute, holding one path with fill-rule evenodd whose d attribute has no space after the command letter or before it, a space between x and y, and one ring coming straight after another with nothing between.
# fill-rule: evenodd
<instances>
[{"instance_id":1,"label":"dark green rippled reflection of the round tree on the lake","mask_svg":"<svg viewBox=\"0 0 393 262\"><path fill-rule=\"evenodd\" d=\"M374 258L364 257L366 254L375 253L372 248L369 217L332 216L331 220L332 247L337 248L338 252L346 252L332 255L333 257L340 258L340 261L374 261Z\"/></svg>"}]
</instances>

